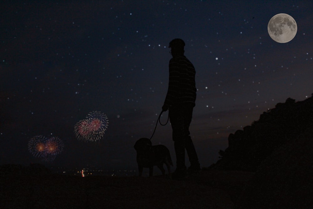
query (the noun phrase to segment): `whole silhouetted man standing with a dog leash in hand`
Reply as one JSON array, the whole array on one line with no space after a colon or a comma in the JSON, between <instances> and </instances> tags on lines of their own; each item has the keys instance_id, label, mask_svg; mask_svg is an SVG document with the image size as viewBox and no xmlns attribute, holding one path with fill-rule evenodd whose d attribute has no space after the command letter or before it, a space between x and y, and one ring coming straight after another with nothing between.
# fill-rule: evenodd
<instances>
[{"instance_id":1,"label":"whole silhouetted man standing with a dog leash in hand","mask_svg":"<svg viewBox=\"0 0 313 209\"><path fill-rule=\"evenodd\" d=\"M183 178L187 175L185 166L185 149L190 161L188 173L200 171L200 164L192 143L189 125L196 101L195 68L184 56L185 42L173 39L169 48L173 58L169 62L169 82L163 111L169 110L173 129L173 141L176 153L176 170L172 178Z\"/></svg>"}]
</instances>

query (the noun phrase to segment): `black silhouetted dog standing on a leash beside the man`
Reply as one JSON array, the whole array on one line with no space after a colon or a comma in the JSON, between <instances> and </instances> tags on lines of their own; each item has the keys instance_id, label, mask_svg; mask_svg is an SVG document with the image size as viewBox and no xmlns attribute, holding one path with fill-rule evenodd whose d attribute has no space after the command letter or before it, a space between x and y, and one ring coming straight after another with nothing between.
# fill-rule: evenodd
<instances>
[{"instance_id":1,"label":"black silhouetted dog standing on a leash beside the man","mask_svg":"<svg viewBox=\"0 0 313 209\"><path fill-rule=\"evenodd\" d=\"M140 138L136 141L134 148L137 151L137 163L139 176L142 176L143 168L149 168L149 177L153 175L153 166L157 166L163 177L165 177L165 170L163 164L167 166L167 171L171 177L171 165L173 166L170 151L164 145L154 145L148 138Z\"/></svg>"}]
</instances>

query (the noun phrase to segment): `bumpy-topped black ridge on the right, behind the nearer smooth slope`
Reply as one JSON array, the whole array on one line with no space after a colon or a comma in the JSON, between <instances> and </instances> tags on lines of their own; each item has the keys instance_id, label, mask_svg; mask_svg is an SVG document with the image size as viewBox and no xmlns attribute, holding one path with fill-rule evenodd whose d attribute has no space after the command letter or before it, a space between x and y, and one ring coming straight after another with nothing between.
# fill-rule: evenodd
<instances>
[{"instance_id":1,"label":"bumpy-topped black ridge on the right, behind the nearer smooth slope","mask_svg":"<svg viewBox=\"0 0 313 209\"><path fill-rule=\"evenodd\" d=\"M313 96L313 94L312 94ZM228 136L228 148L210 168L256 172L275 150L290 143L313 125L313 97L288 98L260 115L258 121Z\"/></svg>"}]
</instances>

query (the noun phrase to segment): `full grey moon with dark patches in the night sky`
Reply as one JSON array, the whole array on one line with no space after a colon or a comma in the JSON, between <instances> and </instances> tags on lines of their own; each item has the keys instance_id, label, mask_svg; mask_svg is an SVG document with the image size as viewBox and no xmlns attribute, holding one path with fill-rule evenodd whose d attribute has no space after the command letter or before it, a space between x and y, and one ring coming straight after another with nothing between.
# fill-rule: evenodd
<instances>
[{"instance_id":1,"label":"full grey moon with dark patches in the night sky","mask_svg":"<svg viewBox=\"0 0 313 209\"><path fill-rule=\"evenodd\" d=\"M267 25L269 36L278 43L291 41L297 33L295 19L288 14L276 14L269 20Z\"/></svg>"}]
</instances>

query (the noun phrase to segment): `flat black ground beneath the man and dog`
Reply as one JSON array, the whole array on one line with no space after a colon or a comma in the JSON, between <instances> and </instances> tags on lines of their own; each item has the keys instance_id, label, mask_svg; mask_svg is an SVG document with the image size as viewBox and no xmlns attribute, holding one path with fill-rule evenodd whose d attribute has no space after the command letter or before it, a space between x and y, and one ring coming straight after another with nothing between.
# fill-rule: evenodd
<instances>
[{"instance_id":1,"label":"flat black ground beneath the man and dog","mask_svg":"<svg viewBox=\"0 0 313 209\"><path fill-rule=\"evenodd\" d=\"M0 208L234 208L254 173L155 177L2 175Z\"/></svg>"}]
</instances>

